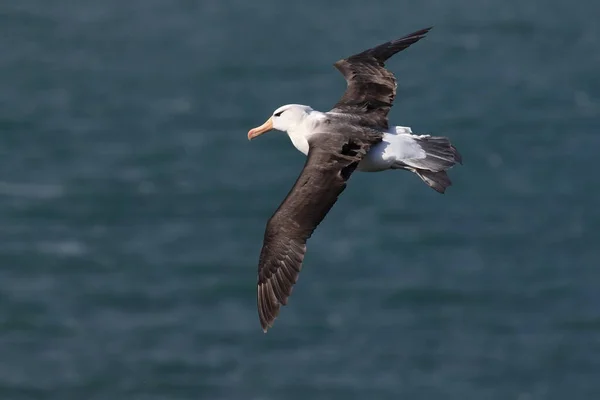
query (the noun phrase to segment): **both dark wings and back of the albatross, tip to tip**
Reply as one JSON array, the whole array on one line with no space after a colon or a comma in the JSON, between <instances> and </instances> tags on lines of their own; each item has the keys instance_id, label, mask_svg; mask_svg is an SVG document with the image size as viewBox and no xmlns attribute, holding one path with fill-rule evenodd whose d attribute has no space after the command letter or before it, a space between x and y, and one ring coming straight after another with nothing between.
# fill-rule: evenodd
<instances>
[{"instance_id":1,"label":"both dark wings and back of the albatross, tip to tip","mask_svg":"<svg viewBox=\"0 0 600 400\"><path fill-rule=\"evenodd\" d=\"M266 332L298 279L306 242L368 150L388 128L396 79L384 62L425 36L423 29L342 59L334 66L347 89L329 114L332 121L309 140L304 168L269 219L258 267L258 314ZM341 115L340 115L341 114ZM336 117L337 115L337 117Z\"/></svg>"}]
</instances>

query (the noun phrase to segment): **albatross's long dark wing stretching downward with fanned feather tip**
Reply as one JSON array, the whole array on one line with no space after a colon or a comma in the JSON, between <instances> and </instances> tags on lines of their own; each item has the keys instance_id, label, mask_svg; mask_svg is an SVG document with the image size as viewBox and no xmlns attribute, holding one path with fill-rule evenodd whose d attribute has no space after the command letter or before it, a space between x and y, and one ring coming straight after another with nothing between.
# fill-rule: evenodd
<instances>
[{"instance_id":1,"label":"albatross's long dark wing stretching downward with fanned feather tip","mask_svg":"<svg viewBox=\"0 0 600 400\"><path fill-rule=\"evenodd\" d=\"M292 293L306 241L346 188L359 161L380 140L379 132L369 130L311 139L304 169L265 231L258 265L258 315L265 332Z\"/></svg>"}]
</instances>

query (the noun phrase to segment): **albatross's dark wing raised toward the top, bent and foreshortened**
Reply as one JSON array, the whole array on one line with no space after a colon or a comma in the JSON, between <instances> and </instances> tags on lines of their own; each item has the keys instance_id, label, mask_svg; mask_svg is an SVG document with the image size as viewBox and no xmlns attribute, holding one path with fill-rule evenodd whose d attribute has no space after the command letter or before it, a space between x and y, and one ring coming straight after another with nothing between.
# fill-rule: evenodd
<instances>
[{"instance_id":1,"label":"albatross's dark wing raised toward the top, bent and foreshortened","mask_svg":"<svg viewBox=\"0 0 600 400\"><path fill-rule=\"evenodd\" d=\"M383 43L333 64L346 78L348 87L332 111L358 114L366 125L387 128L387 114L396 97L396 78L385 69L385 61L424 38L430 29Z\"/></svg>"}]
</instances>

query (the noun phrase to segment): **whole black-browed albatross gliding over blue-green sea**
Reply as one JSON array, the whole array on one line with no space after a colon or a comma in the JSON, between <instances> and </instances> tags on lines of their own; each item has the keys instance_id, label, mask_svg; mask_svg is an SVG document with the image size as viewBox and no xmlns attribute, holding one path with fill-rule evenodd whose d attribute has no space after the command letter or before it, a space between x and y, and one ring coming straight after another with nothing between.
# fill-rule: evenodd
<instances>
[{"instance_id":1,"label":"whole black-browed albatross gliding over blue-green sea","mask_svg":"<svg viewBox=\"0 0 600 400\"><path fill-rule=\"evenodd\" d=\"M287 132L296 149L306 155L300 176L265 229L257 293L258 316L265 333L298 280L307 240L355 170L410 171L439 193L452 184L446 171L462 164L462 159L447 137L415 135L410 127L388 122L397 83L385 61L424 38L430 29L334 63L347 87L330 111L287 104L248 132L249 140L273 129Z\"/></svg>"}]
</instances>

